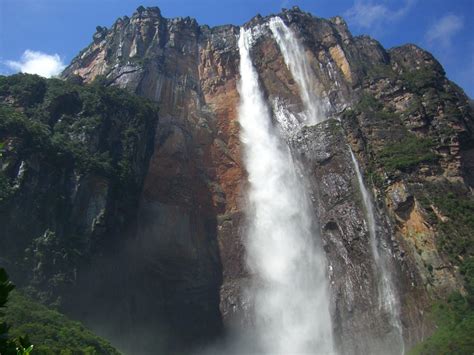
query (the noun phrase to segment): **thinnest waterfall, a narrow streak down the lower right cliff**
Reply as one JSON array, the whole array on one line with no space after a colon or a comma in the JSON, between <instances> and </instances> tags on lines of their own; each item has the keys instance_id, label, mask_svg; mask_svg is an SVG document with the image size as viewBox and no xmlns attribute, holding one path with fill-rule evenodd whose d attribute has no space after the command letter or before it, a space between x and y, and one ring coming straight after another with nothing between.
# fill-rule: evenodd
<instances>
[{"instance_id":1,"label":"thinnest waterfall, a narrow streak down the lower right cliff","mask_svg":"<svg viewBox=\"0 0 474 355\"><path fill-rule=\"evenodd\" d=\"M400 346L400 353L404 353L404 342L403 342L403 328L400 321L400 312L399 305L397 301L397 296L395 294L392 281L390 279L389 271L387 266L381 258L378 245L377 245L377 224L375 220L375 213L372 204L372 199L370 198L369 191L365 187L364 179L362 173L360 172L359 164L357 159L350 149L352 162L354 163L354 168L357 175L357 181L359 183L359 190L362 194L362 201L365 209L365 216L367 219L367 227L369 229L370 236L370 246L372 248L372 255L375 261L375 267L378 271L379 284L378 284L378 294L379 294L379 307L387 312L390 315L390 323L392 327L396 330L396 339L397 343Z\"/></svg>"}]
</instances>

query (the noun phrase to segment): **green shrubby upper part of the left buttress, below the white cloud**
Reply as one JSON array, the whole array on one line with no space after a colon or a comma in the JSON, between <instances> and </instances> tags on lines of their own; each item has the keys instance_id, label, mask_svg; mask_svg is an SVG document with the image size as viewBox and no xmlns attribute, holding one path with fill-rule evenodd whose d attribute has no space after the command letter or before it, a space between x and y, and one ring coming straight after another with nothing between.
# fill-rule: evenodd
<instances>
[{"instance_id":1,"label":"green shrubby upper part of the left buttress, below the white cloud","mask_svg":"<svg viewBox=\"0 0 474 355\"><path fill-rule=\"evenodd\" d=\"M129 178L130 164L123 160L133 158L138 135L157 117L152 103L121 89L35 75L0 76L1 97L14 104L0 104L0 141L14 135L22 139L22 155L40 153L52 164L74 163L81 172L109 177ZM109 131L123 132L117 149L106 139L84 144Z\"/></svg>"}]
</instances>

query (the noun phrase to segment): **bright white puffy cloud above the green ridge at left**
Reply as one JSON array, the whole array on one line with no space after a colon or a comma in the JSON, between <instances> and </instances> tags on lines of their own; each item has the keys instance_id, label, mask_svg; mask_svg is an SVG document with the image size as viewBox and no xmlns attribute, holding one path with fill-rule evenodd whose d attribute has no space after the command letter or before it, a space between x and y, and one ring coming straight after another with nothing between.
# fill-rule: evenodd
<instances>
[{"instance_id":1,"label":"bright white puffy cloud above the green ridge at left","mask_svg":"<svg viewBox=\"0 0 474 355\"><path fill-rule=\"evenodd\" d=\"M5 64L12 70L46 78L58 75L65 68L58 54L50 55L31 50L26 50L19 61L7 60Z\"/></svg>"}]
</instances>

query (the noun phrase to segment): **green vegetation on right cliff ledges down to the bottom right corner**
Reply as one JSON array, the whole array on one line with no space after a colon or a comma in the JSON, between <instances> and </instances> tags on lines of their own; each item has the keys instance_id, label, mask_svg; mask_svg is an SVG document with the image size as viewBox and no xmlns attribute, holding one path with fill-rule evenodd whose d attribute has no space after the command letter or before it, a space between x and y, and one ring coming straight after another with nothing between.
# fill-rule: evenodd
<instances>
[{"instance_id":1,"label":"green vegetation on right cliff ledges down to the bottom right corner","mask_svg":"<svg viewBox=\"0 0 474 355\"><path fill-rule=\"evenodd\" d=\"M365 93L353 110L344 112L344 117L348 122L358 122L358 127L367 125L373 134L366 147L370 180L381 191L393 179L404 181L413 189L413 195L426 212L426 222L435 231L437 251L446 261L445 265L454 266L453 270L459 270L464 280L465 292L454 292L434 303L429 317L436 325L435 332L410 353L472 354L474 199L464 183L449 182L441 177L428 180L420 171L421 167L428 168L424 171L431 174L441 171L439 163L443 156L437 151L442 150L446 142L455 141L456 132L450 122L462 118L456 91L447 91L438 79L432 70L407 71L401 81L413 96L409 96L411 99L404 111L398 113L381 99ZM439 107L444 107L446 117L440 120L436 130L415 134L405 125L404 120L418 122L424 115L438 115ZM389 125L390 134L384 125ZM433 265L428 265L427 270L435 277Z\"/></svg>"}]
</instances>

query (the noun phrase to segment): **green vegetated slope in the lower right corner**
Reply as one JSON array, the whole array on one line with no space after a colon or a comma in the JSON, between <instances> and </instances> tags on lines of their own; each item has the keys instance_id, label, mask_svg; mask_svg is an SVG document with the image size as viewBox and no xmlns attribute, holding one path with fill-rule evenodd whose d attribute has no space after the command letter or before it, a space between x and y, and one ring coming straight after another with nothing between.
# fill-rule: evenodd
<instances>
[{"instance_id":1,"label":"green vegetated slope in the lower right corner","mask_svg":"<svg viewBox=\"0 0 474 355\"><path fill-rule=\"evenodd\" d=\"M440 251L459 266L467 294L453 293L433 307L435 333L411 354L474 353L474 199L455 184L425 184L419 200L437 230ZM441 221L431 208L447 217Z\"/></svg>"}]
</instances>

